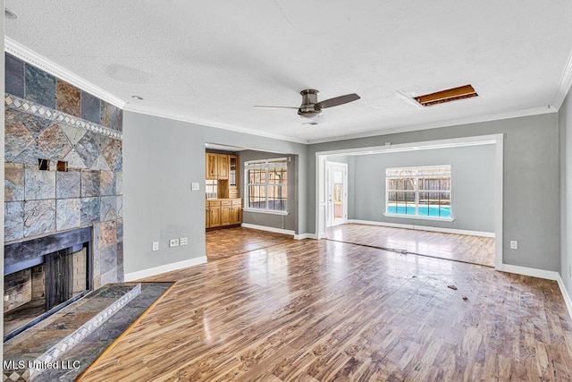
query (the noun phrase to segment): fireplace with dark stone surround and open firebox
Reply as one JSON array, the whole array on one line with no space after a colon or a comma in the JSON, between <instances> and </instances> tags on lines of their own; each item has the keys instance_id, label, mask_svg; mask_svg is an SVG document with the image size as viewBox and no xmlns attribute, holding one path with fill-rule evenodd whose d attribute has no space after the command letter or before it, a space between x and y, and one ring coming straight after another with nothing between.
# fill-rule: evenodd
<instances>
[{"instance_id":1,"label":"fireplace with dark stone surround and open firebox","mask_svg":"<svg viewBox=\"0 0 572 382\"><path fill-rule=\"evenodd\" d=\"M4 245L4 342L91 291L91 232Z\"/></svg>"}]
</instances>

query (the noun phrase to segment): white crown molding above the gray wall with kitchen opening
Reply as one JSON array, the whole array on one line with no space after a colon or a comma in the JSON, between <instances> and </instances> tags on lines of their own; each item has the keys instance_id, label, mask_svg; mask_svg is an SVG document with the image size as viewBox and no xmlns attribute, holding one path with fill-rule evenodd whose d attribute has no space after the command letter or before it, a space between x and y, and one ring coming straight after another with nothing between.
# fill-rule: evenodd
<instances>
[{"instance_id":1,"label":"white crown molding above the gray wall with kitchen opening","mask_svg":"<svg viewBox=\"0 0 572 382\"><path fill-rule=\"evenodd\" d=\"M165 112L158 111L158 110L152 109L152 108L134 106L133 104L130 104L129 102L127 104L125 104L125 106L123 107L123 111L132 112L132 113L139 113L142 115L152 115L152 116L156 116L156 117L160 117L160 118L172 119L175 121L181 121L181 122L186 122L186 123L195 123L195 124L199 124L201 126L213 127L215 129L223 129L223 130L228 130L231 132L241 132L243 134L256 135L257 137L271 138L273 140L286 140L286 141L294 142L294 143L301 143L301 144L305 144L305 145L308 144L307 140L296 139L296 138L288 137L286 135L273 134L273 133L269 133L269 132L261 132L258 130L247 129L247 128L240 127L240 126L234 126L231 124L212 123L211 121L206 121L206 120L202 120L202 119L189 117L189 115L182 115L182 114L178 114L178 113L169 113L169 112L165 113Z\"/></svg>"}]
</instances>

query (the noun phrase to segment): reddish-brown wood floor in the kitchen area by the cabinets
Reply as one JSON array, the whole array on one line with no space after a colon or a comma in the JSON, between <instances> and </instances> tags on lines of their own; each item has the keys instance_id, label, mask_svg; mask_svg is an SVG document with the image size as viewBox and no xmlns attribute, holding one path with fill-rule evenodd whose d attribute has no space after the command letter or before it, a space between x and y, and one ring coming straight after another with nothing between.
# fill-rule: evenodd
<instances>
[{"instance_id":1,"label":"reddish-brown wood floor in the kitchen area by the cabinets","mask_svg":"<svg viewBox=\"0 0 572 382\"><path fill-rule=\"evenodd\" d=\"M290 234L243 227L206 231L206 259L222 259L250 250L261 250L291 239Z\"/></svg>"}]
</instances>

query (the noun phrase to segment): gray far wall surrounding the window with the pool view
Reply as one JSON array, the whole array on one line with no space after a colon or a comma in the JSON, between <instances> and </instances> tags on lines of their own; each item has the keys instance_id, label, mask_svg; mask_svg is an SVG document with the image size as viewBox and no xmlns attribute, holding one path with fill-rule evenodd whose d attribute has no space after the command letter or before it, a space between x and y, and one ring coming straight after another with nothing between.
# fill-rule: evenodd
<instances>
[{"instance_id":1,"label":"gray far wall surrounding the window with the pool view","mask_svg":"<svg viewBox=\"0 0 572 382\"><path fill-rule=\"evenodd\" d=\"M493 145L357 156L355 189L349 192L354 208L349 215L374 222L494 233L494 163ZM451 166L453 222L383 216L386 168L435 165Z\"/></svg>"}]
</instances>

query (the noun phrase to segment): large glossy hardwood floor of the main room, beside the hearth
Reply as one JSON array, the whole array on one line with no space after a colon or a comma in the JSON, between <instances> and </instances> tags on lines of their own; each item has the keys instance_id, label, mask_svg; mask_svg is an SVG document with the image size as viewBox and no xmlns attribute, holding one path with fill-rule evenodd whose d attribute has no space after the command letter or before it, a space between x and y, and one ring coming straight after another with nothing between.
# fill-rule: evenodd
<instances>
[{"instance_id":1,"label":"large glossy hardwood floor of the main room, beside the hearth","mask_svg":"<svg viewBox=\"0 0 572 382\"><path fill-rule=\"evenodd\" d=\"M572 378L548 280L327 240L148 280L179 284L83 380Z\"/></svg>"}]
</instances>

